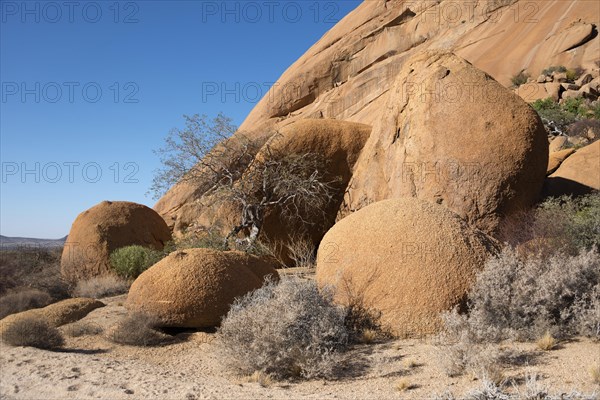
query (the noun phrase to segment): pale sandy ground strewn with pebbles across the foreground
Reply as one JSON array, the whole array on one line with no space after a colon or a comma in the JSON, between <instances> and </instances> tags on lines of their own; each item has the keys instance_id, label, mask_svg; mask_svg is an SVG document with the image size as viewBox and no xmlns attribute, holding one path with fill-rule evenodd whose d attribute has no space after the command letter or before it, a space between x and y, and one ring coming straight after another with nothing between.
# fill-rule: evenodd
<instances>
[{"instance_id":1,"label":"pale sandy ground strewn with pebbles across the foreground","mask_svg":"<svg viewBox=\"0 0 600 400\"><path fill-rule=\"evenodd\" d=\"M125 315L124 296L105 299L82 321L108 330ZM68 326L61 329L67 330ZM432 340L360 345L348 354L346 376L333 381L243 383L221 367L210 333L183 333L158 348L115 345L102 334L68 338L64 350L0 348L2 399L425 399L449 390L460 397L476 387L472 376L447 377ZM517 388L527 373L539 373L551 393L600 393L589 374L600 366L600 343L578 338L541 352L535 344L510 345L520 365L504 370ZM415 364L409 366L407 360ZM398 381L411 387L399 391Z\"/></svg>"}]
</instances>

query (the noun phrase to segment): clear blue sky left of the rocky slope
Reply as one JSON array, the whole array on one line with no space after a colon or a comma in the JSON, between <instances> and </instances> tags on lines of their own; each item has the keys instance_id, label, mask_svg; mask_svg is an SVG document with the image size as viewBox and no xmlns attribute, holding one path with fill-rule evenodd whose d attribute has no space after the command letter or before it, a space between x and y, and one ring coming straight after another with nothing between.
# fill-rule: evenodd
<instances>
[{"instance_id":1,"label":"clear blue sky left of the rocky slope","mask_svg":"<svg viewBox=\"0 0 600 400\"><path fill-rule=\"evenodd\" d=\"M0 0L0 233L58 238L102 200L153 206L152 150L183 114L241 124L359 3Z\"/></svg>"}]
</instances>

